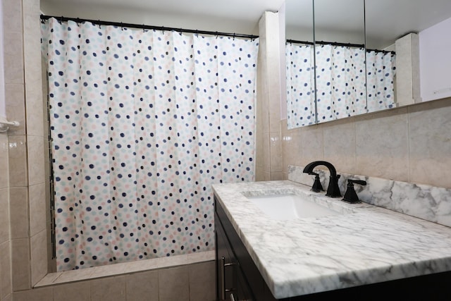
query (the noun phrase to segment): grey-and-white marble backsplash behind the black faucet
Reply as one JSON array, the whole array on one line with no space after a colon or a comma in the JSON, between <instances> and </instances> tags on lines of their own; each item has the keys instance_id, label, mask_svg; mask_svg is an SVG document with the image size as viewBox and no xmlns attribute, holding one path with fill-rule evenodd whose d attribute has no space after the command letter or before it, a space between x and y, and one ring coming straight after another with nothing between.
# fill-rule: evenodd
<instances>
[{"instance_id":1,"label":"grey-and-white marble backsplash behind the black faucet","mask_svg":"<svg viewBox=\"0 0 451 301\"><path fill-rule=\"evenodd\" d=\"M333 162L331 162L333 164ZM313 176L303 173L302 166L288 166L288 179L304 185L313 184ZM326 189L329 173L317 169L321 185ZM354 185L354 189L363 202L387 208L402 214L415 216L426 221L433 221L451 226L451 189L438 188L395 180L386 180L368 176L340 173L338 185L345 195L347 179L366 180L366 185Z\"/></svg>"}]
</instances>

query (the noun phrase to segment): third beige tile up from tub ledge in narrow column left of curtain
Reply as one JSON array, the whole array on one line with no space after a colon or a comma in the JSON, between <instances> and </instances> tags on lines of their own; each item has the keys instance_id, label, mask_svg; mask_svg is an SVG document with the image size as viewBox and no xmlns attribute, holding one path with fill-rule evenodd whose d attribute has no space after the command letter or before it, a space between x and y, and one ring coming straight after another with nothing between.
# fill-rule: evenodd
<instances>
[{"instance_id":1,"label":"third beige tile up from tub ledge in narrow column left of curtain","mask_svg":"<svg viewBox=\"0 0 451 301\"><path fill-rule=\"evenodd\" d=\"M41 184L45 181L44 140L39 136L27 136L28 183Z\"/></svg>"}]
</instances>

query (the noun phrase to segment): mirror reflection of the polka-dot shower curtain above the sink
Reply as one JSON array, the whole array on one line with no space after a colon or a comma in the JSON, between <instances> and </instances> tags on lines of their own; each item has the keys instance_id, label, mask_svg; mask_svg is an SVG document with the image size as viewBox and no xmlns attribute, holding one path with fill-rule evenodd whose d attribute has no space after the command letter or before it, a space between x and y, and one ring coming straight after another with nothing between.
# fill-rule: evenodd
<instances>
[{"instance_id":1,"label":"mirror reflection of the polka-dot shower curtain above the sink","mask_svg":"<svg viewBox=\"0 0 451 301\"><path fill-rule=\"evenodd\" d=\"M313 124L315 111L325 122L395 105L395 56L390 52L369 50L365 58L359 47L289 43L286 58L288 128Z\"/></svg>"}]
</instances>

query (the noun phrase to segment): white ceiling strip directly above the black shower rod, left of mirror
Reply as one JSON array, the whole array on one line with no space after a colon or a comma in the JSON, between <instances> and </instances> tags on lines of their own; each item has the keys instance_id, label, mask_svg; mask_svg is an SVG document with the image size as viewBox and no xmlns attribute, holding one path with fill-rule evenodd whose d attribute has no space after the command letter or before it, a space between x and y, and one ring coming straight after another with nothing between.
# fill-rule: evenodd
<instances>
[{"instance_id":1,"label":"white ceiling strip directly above the black shower rod, left of mirror","mask_svg":"<svg viewBox=\"0 0 451 301\"><path fill-rule=\"evenodd\" d=\"M284 0L41 0L42 13L190 30L258 34L264 11Z\"/></svg>"}]
</instances>

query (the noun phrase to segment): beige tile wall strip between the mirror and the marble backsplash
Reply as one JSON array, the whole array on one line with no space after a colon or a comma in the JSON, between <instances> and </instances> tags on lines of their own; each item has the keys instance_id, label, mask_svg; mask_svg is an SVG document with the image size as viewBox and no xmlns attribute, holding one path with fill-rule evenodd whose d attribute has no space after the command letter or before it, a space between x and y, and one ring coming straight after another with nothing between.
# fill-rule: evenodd
<instances>
[{"instance_id":1,"label":"beige tile wall strip between the mirror and the marble backsplash","mask_svg":"<svg viewBox=\"0 0 451 301\"><path fill-rule=\"evenodd\" d=\"M451 188L451 99L287 130L283 170L326 160L338 171Z\"/></svg>"}]
</instances>

